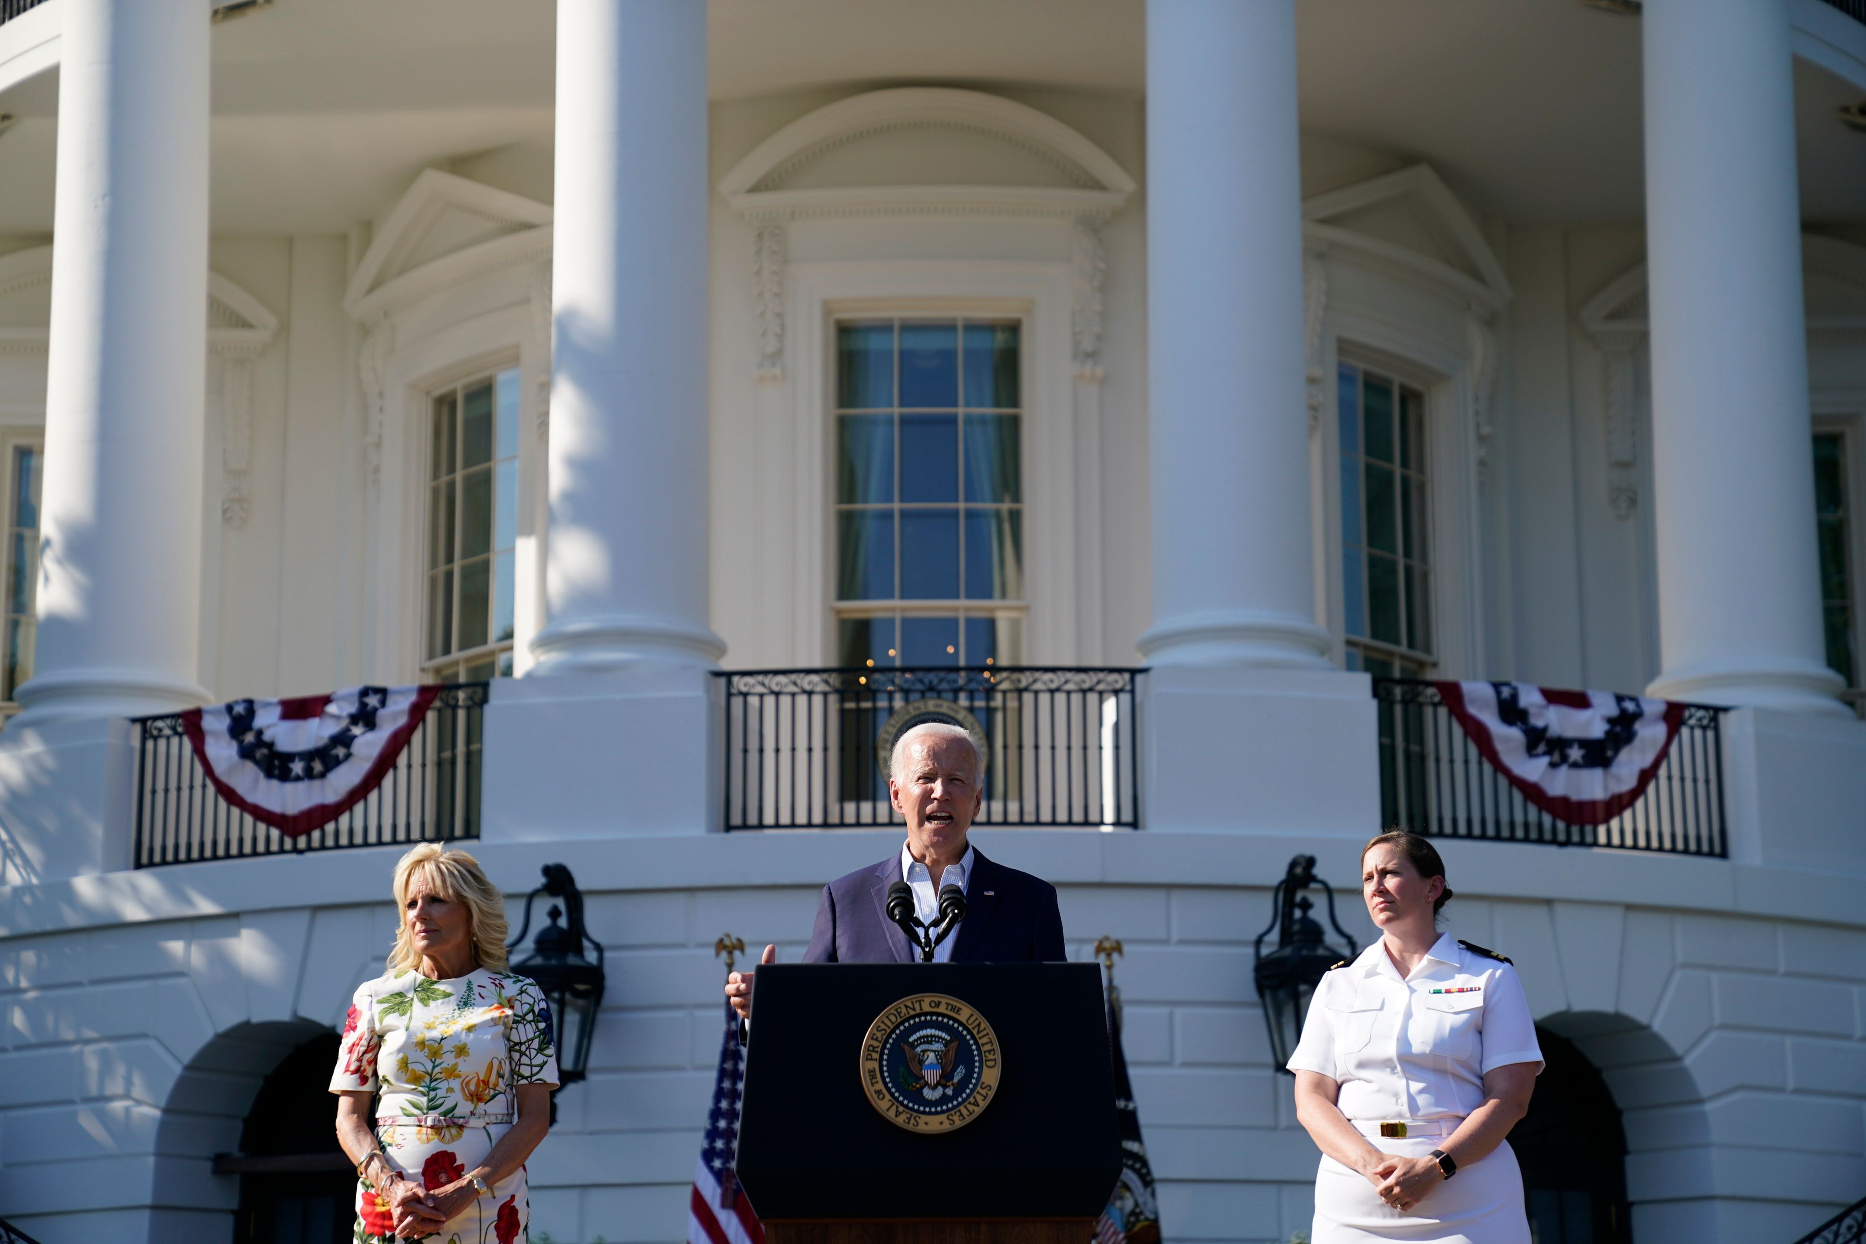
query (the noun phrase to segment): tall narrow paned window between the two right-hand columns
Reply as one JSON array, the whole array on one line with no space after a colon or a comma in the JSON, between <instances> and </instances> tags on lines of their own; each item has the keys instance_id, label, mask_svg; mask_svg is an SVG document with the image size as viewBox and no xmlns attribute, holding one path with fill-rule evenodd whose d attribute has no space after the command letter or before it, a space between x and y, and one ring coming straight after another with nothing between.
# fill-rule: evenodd
<instances>
[{"instance_id":1,"label":"tall narrow paned window between the two right-hand columns","mask_svg":"<svg viewBox=\"0 0 1866 1244\"><path fill-rule=\"evenodd\" d=\"M1433 662L1426 395L1342 364L1340 420L1347 668L1424 677Z\"/></svg>"}]
</instances>

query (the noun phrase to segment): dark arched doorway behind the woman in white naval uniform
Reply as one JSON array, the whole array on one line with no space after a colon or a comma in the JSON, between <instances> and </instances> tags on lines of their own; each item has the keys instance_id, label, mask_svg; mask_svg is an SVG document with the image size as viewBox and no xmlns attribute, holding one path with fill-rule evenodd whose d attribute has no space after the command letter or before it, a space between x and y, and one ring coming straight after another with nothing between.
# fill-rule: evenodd
<instances>
[{"instance_id":1,"label":"dark arched doorway behind the woman in white naval uniform","mask_svg":"<svg viewBox=\"0 0 1866 1244\"><path fill-rule=\"evenodd\" d=\"M1594 1063L1564 1037L1536 1030L1547 1061L1528 1115L1510 1132L1523 1164L1536 1244L1631 1244L1627 1136Z\"/></svg>"}]
</instances>

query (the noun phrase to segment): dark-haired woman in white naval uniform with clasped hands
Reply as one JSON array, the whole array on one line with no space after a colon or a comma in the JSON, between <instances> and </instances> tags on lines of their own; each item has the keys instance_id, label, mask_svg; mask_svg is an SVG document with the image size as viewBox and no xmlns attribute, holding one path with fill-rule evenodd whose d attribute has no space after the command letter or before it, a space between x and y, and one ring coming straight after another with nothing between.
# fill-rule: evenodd
<instances>
[{"instance_id":1,"label":"dark-haired woman in white naval uniform with clasped hands","mask_svg":"<svg viewBox=\"0 0 1866 1244\"><path fill-rule=\"evenodd\" d=\"M1416 834L1360 852L1381 938L1316 987L1289 1056L1321 1149L1314 1244L1530 1244L1504 1136L1541 1072L1510 961L1437 929L1444 862Z\"/></svg>"}]
</instances>

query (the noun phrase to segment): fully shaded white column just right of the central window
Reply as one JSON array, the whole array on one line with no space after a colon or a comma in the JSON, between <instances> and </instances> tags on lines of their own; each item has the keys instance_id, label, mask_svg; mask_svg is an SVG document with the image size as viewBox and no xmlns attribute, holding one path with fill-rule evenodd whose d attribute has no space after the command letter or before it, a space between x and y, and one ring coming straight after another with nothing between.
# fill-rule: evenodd
<instances>
[{"instance_id":1,"label":"fully shaded white column just right of the central window","mask_svg":"<svg viewBox=\"0 0 1866 1244\"><path fill-rule=\"evenodd\" d=\"M1325 668L1293 0L1148 4L1153 664Z\"/></svg>"}]
</instances>

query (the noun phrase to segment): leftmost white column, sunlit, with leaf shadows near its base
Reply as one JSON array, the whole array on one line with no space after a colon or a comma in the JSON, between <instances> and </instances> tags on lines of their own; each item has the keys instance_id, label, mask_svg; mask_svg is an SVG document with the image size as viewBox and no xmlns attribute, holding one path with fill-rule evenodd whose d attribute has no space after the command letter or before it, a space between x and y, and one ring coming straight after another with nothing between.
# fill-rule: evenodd
<instances>
[{"instance_id":1,"label":"leftmost white column, sunlit, with leaf shadows near its base","mask_svg":"<svg viewBox=\"0 0 1866 1244\"><path fill-rule=\"evenodd\" d=\"M24 720L202 703L207 11L65 0Z\"/></svg>"}]
</instances>

